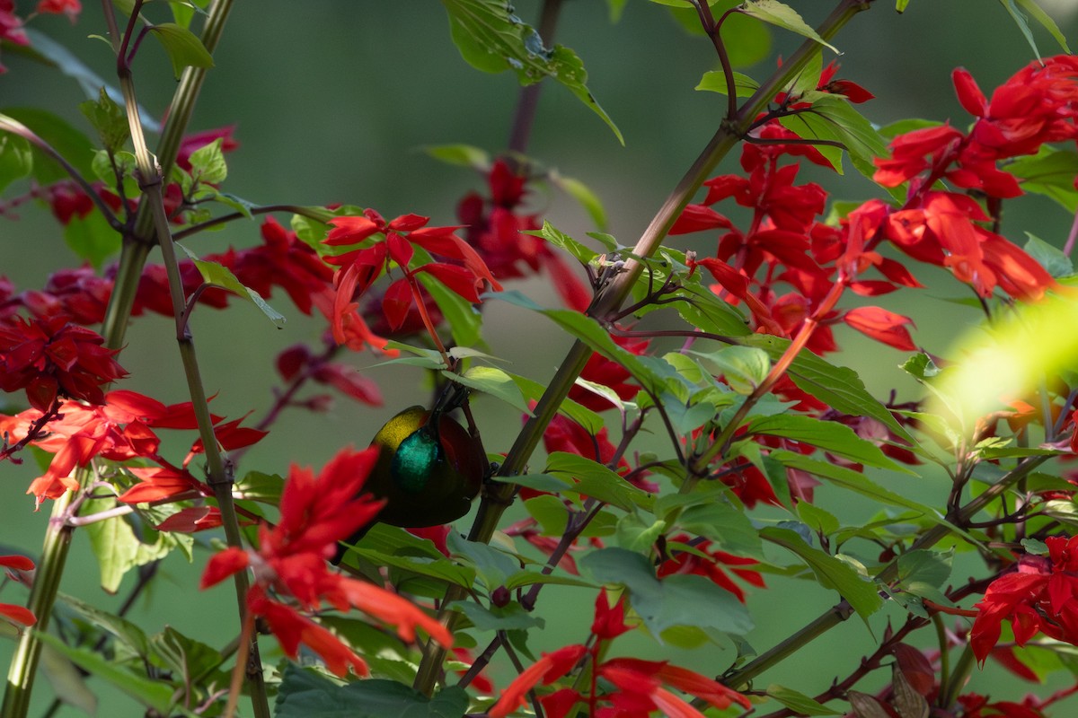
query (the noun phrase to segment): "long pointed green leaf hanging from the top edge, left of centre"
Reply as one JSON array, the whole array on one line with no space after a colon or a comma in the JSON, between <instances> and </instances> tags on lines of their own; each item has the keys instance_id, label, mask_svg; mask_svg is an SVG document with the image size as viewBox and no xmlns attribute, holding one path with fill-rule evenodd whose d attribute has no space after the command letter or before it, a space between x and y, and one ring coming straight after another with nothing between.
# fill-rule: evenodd
<instances>
[{"instance_id":1,"label":"long pointed green leaf hanging from the top edge, left of centre","mask_svg":"<svg viewBox=\"0 0 1078 718\"><path fill-rule=\"evenodd\" d=\"M544 47L535 28L513 15L503 0L442 0L442 4L450 14L453 42L469 65L483 72L513 70L521 85L556 80L625 143L621 130L588 90L588 72L576 53L562 45Z\"/></svg>"}]
</instances>

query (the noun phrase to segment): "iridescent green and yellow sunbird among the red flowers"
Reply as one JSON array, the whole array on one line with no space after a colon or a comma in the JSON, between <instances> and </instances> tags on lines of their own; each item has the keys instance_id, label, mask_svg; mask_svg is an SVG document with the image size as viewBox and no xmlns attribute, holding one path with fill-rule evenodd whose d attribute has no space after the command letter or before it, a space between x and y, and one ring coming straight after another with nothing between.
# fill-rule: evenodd
<instances>
[{"instance_id":1,"label":"iridescent green and yellow sunbird among the red flowers","mask_svg":"<svg viewBox=\"0 0 1078 718\"><path fill-rule=\"evenodd\" d=\"M467 390L454 386L433 409L407 407L374 435L371 446L378 448L378 460L363 491L386 502L374 522L405 529L437 526L459 519L471 508L487 462L479 437L447 413L468 396ZM344 544L361 539L374 522ZM344 544L337 546L334 564L346 552Z\"/></svg>"}]
</instances>

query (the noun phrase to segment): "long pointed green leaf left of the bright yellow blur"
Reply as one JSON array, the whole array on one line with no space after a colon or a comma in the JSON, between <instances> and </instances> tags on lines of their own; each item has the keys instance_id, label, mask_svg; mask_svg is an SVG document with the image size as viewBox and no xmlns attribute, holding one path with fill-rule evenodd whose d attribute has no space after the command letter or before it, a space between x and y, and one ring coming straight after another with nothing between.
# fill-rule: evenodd
<instances>
[{"instance_id":1,"label":"long pointed green leaf left of the bright yellow blur","mask_svg":"<svg viewBox=\"0 0 1078 718\"><path fill-rule=\"evenodd\" d=\"M754 334L738 341L764 350L772 362L778 361L790 344L789 339L762 334ZM869 394L861 378L853 369L834 366L811 351L802 350L793 358L788 374L798 389L812 394L835 411L855 417L871 417L886 424L899 438L909 441L914 451L923 452L916 439L898 423L887 407Z\"/></svg>"}]
</instances>

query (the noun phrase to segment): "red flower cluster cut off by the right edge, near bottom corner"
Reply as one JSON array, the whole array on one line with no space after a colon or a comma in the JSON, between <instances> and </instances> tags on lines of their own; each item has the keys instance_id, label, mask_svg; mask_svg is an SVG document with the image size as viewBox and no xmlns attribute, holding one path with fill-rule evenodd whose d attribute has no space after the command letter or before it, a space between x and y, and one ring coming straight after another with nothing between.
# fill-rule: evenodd
<instances>
[{"instance_id":1,"label":"red flower cluster cut off by the right edge, near bottom corner","mask_svg":"<svg viewBox=\"0 0 1078 718\"><path fill-rule=\"evenodd\" d=\"M1048 555L1023 555L1017 571L989 586L969 632L977 660L984 663L1010 620L1014 640L1024 646L1037 632L1078 645L1078 536L1045 539Z\"/></svg>"}]
</instances>

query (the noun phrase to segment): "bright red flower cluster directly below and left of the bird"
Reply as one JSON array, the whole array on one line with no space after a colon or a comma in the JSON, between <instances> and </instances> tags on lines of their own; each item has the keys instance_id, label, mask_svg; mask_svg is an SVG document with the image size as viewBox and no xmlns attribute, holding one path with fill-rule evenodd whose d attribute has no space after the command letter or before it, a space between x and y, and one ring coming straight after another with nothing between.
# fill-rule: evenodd
<instances>
[{"instance_id":1,"label":"bright red flower cluster directly below and left of the bird","mask_svg":"<svg viewBox=\"0 0 1078 718\"><path fill-rule=\"evenodd\" d=\"M445 627L407 600L331 573L327 566L337 541L373 521L382 508L381 501L362 493L377 457L377 449L345 449L317 477L309 469L293 466L281 494L280 521L273 529L260 527L259 549L229 548L216 554L202 580L202 587L207 588L237 571L253 568L255 583L247 597L251 613L267 620L290 657L295 657L302 643L342 676L349 666L365 674L367 665L340 638L296 608L271 599L271 590L278 596L290 596L305 611L319 610L323 603L338 610L359 608L396 625L404 640L414 640L418 627L445 647L453 643Z\"/></svg>"}]
</instances>

